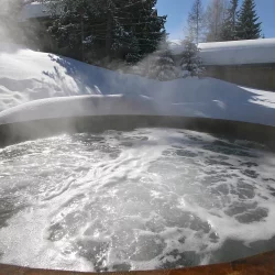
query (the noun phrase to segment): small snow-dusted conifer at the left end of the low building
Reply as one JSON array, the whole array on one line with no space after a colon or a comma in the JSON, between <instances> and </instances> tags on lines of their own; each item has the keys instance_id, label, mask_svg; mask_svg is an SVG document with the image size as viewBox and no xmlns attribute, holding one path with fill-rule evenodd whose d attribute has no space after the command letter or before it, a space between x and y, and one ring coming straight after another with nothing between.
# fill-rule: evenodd
<instances>
[{"instance_id":1,"label":"small snow-dusted conifer at the left end of the low building","mask_svg":"<svg viewBox=\"0 0 275 275\"><path fill-rule=\"evenodd\" d=\"M184 52L182 54L180 69L182 77L200 76L204 72L199 48L189 40L183 41Z\"/></svg>"}]
</instances>

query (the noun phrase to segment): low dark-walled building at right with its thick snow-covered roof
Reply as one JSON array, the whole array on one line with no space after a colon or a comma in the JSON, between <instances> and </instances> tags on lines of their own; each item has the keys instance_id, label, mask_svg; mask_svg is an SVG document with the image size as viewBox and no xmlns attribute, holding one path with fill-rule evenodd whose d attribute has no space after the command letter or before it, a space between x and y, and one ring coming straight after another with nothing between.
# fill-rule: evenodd
<instances>
[{"instance_id":1,"label":"low dark-walled building at right with its thick snow-covered roof","mask_svg":"<svg viewBox=\"0 0 275 275\"><path fill-rule=\"evenodd\" d=\"M200 43L205 76L275 91L275 38ZM184 51L172 41L175 58Z\"/></svg>"}]
</instances>

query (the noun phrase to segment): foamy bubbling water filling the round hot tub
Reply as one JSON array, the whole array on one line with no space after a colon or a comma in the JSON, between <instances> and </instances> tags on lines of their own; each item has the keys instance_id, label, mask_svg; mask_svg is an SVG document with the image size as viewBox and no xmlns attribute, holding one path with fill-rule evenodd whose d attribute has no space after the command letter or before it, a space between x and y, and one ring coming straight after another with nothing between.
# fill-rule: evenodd
<instances>
[{"instance_id":1,"label":"foamy bubbling water filling the round hot tub","mask_svg":"<svg viewBox=\"0 0 275 275\"><path fill-rule=\"evenodd\" d=\"M275 249L275 157L174 129L0 150L0 262L75 271L175 268Z\"/></svg>"}]
</instances>

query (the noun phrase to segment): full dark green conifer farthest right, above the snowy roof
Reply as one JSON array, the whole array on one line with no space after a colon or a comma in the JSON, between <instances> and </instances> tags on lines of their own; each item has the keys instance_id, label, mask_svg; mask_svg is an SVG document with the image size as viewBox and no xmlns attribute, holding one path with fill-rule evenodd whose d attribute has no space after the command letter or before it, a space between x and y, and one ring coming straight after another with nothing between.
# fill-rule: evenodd
<instances>
[{"instance_id":1,"label":"full dark green conifer farthest right, above the snowy roof","mask_svg":"<svg viewBox=\"0 0 275 275\"><path fill-rule=\"evenodd\" d=\"M261 37L261 24L256 14L254 0L244 0L241 7L238 24L238 40L256 40Z\"/></svg>"}]
</instances>

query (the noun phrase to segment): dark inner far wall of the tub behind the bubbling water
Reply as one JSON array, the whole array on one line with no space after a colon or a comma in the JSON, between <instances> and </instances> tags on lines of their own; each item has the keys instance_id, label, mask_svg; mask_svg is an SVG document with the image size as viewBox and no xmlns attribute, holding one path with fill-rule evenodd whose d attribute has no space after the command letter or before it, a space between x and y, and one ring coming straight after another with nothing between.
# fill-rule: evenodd
<instances>
[{"instance_id":1,"label":"dark inner far wall of the tub behind the bubbling water","mask_svg":"<svg viewBox=\"0 0 275 275\"><path fill-rule=\"evenodd\" d=\"M74 117L2 124L0 125L0 146L61 133L122 131L146 127L187 129L260 142L275 151L275 127L219 119L161 116Z\"/></svg>"}]
</instances>

